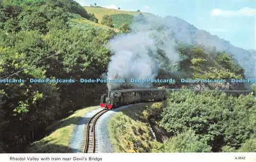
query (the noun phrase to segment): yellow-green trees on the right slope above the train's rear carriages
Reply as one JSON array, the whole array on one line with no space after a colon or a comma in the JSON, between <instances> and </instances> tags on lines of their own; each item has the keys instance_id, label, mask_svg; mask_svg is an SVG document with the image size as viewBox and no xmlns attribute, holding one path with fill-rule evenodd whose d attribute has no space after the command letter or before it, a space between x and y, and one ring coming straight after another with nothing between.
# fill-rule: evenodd
<instances>
[{"instance_id":1,"label":"yellow-green trees on the right slope above the train's rear carriages","mask_svg":"<svg viewBox=\"0 0 256 162\"><path fill-rule=\"evenodd\" d=\"M200 47L178 45L180 77L202 79L243 78L243 68L225 52L206 53Z\"/></svg>"}]
</instances>

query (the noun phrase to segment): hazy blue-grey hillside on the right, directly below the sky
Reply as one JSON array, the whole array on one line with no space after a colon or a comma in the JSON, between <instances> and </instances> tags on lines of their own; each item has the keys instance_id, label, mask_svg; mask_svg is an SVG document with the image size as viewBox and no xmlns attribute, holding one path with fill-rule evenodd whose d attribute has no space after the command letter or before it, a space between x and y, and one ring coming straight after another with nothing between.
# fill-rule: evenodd
<instances>
[{"instance_id":1,"label":"hazy blue-grey hillside on the right, directly below the sky","mask_svg":"<svg viewBox=\"0 0 256 162\"><path fill-rule=\"evenodd\" d=\"M178 40L188 44L203 45L206 49L230 53L245 68L247 77L256 77L256 51L235 47L229 41L221 39L217 35L211 35L207 31L197 29L178 17L167 16L164 21L173 30Z\"/></svg>"}]
</instances>

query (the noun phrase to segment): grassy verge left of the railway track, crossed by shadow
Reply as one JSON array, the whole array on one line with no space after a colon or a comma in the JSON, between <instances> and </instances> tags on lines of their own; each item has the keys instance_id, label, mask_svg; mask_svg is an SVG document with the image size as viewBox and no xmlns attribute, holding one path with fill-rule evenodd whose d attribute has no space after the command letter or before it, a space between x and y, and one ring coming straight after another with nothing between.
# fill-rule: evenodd
<instances>
[{"instance_id":1,"label":"grassy verge left of the railway track, crossed by shadow","mask_svg":"<svg viewBox=\"0 0 256 162\"><path fill-rule=\"evenodd\" d=\"M30 148L29 153L68 153L72 150L69 148L70 138L72 136L74 125L83 117L83 115L91 110L99 108L99 106L92 106L77 110L74 114L66 119L62 119L52 124L48 129L53 132L42 138L40 141L34 142Z\"/></svg>"}]
</instances>

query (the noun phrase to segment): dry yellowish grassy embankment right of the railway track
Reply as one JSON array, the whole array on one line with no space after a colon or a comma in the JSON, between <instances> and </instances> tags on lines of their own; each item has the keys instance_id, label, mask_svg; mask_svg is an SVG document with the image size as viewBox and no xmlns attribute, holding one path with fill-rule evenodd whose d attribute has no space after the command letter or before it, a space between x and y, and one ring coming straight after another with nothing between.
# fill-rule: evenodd
<instances>
[{"instance_id":1,"label":"dry yellowish grassy embankment right of the railway track","mask_svg":"<svg viewBox=\"0 0 256 162\"><path fill-rule=\"evenodd\" d=\"M116 113L108 123L110 140L115 152L152 152L157 143L152 140L148 110L157 109L161 102L132 106Z\"/></svg>"}]
</instances>

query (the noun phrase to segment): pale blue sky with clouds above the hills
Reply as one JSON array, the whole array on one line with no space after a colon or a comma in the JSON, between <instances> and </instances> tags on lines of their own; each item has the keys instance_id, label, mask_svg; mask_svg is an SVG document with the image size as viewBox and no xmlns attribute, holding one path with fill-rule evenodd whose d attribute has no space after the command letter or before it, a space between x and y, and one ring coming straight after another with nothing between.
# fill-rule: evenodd
<instances>
[{"instance_id":1,"label":"pale blue sky with clouds above the hills","mask_svg":"<svg viewBox=\"0 0 256 162\"><path fill-rule=\"evenodd\" d=\"M82 6L150 12L184 19L231 44L256 50L256 0L76 0Z\"/></svg>"}]
</instances>

